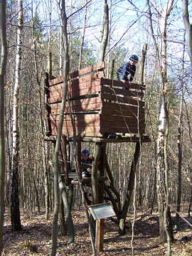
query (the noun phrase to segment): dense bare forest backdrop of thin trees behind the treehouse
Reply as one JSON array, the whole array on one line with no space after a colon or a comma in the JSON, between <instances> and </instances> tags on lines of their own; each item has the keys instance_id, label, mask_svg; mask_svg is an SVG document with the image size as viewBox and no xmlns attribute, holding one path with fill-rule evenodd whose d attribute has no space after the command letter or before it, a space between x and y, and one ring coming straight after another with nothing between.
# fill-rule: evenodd
<instances>
[{"instance_id":1,"label":"dense bare forest backdrop of thin trees behind the treehouse","mask_svg":"<svg viewBox=\"0 0 192 256\"><path fill-rule=\"evenodd\" d=\"M55 0L22 2L23 23L18 24L19 1L6 1L6 40L8 46L5 99L5 207L11 208L11 178L13 176L14 125L18 125L18 195L23 213L31 214L46 206L47 189L50 211L53 211L53 169L49 161L53 159L53 148L44 141L46 134L44 80L52 65L53 77L63 75L63 38L60 18L60 4ZM172 1L171 11L166 21L166 70L159 64L161 43L161 16L169 1L116 1L109 0L109 38L105 52L105 75L113 73L119 65L129 60L129 55L142 58L142 48L147 45L144 66L146 134L151 142L142 144L139 167L136 176L135 206L142 210L157 208L157 140L162 89L169 112L169 136L167 161L169 165L169 204L172 211L181 211L188 206L191 214L192 202L192 90L190 36L183 22L182 1ZM21 4L21 3L20 3ZM192 13L192 3L187 1L188 13ZM20 5L21 6L21 5ZM100 62L102 35L101 0L66 1L68 17L69 73ZM149 8L150 6L150 8ZM150 10L150 11L149 11ZM189 17L190 21L190 17ZM16 65L18 28L22 27L20 48L21 63ZM188 24L190 26L190 23ZM155 39L155 41L154 41ZM156 43L154 43L156 42ZM114 70L111 63L114 60ZM16 66L21 78L16 90ZM161 86L162 73L166 72L166 87ZM163 74L164 75L164 74ZM134 82L139 82L141 71L137 64ZM18 102L14 97L17 95ZM18 116L14 106L18 103ZM16 119L15 119L16 118ZM13 119L15 122L13 122ZM85 148L94 154L91 143ZM127 193L129 171L134 154L134 144L107 144L107 158L114 176L114 185L120 193L121 201ZM49 187L46 187L48 179ZM179 185L181 184L181 186ZM181 201L178 193L181 192ZM78 186L75 186L73 207L82 204ZM178 207L179 205L179 207ZM181 207L180 207L181 206ZM132 206L131 206L132 207ZM22 224L22 223L21 223Z\"/></svg>"}]
</instances>

